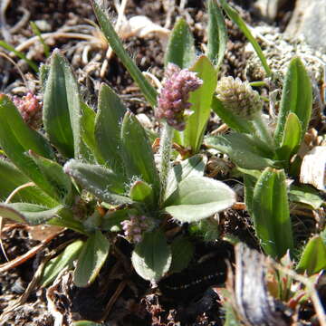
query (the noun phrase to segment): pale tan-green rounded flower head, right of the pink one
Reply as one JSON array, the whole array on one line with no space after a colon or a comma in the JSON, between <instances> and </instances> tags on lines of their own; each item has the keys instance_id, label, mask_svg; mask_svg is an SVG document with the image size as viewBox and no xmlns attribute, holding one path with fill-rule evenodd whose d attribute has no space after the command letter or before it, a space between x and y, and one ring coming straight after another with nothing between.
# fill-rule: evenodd
<instances>
[{"instance_id":1,"label":"pale tan-green rounded flower head, right of the pink one","mask_svg":"<svg viewBox=\"0 0 326 326\"><path fill-rule=\"evenodd\" d=\"M239 78L223 77L217 82L217 99L223 102L226 110L238 117L254 120L257 112L263 108L259 93L254 91L249 82L241 82Z\"/></svg>"}]
</instances>

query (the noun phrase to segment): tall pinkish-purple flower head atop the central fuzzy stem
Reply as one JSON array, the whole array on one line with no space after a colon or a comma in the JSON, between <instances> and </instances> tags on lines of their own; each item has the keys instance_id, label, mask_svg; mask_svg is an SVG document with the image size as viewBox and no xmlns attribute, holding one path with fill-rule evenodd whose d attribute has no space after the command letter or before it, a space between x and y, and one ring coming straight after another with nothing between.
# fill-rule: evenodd
<instances>
[{"instance_id":1,"label":"tall pinkish-purple flower head atop the central fuzzy stem","mask_svg":"<svg viewBox=\"0 0 326 326\"><path fill-rule=\"evenodd\" d=\"M196 91L203 84L196 72L180 69L174 63L168 63L165 81L158 98L157 119L165 119L168 125L182 131L186 128L185 110L190 109L190 91Z\"/></svg>"}]
</instances>

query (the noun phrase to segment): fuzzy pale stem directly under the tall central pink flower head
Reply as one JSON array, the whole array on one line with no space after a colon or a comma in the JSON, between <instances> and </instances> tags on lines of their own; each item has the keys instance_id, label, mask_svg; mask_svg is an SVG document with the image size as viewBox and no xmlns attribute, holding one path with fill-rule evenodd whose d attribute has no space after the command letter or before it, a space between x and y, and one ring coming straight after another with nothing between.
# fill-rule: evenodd
<instances>
[{"instance_id":1,"label":"fuzzy pale stem directly under the tall central pink flower head","mask_svg":"<svg viewBox=\"0 0 326 326\"><path fill-rule=\"evenodd\" d=\"M160 177L160 194L159 205L164 201L164 197L167 190L168 172L170 168L170 158L172 149L174 129L168 125L166 121L163 122L161 129L161 135L159 140L159 177Z\"/></svg>"}]
</instances>

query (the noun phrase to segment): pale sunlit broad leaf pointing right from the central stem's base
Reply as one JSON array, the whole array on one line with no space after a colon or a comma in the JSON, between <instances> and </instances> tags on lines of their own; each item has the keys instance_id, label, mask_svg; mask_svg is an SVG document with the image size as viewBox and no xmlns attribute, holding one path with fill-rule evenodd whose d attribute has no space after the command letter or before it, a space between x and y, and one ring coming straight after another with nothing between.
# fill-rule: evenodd
<instances>
[{"instance_id":1,"label":"pale sunlit broad leaf pointing right from the central stem's base","mask_svg":"<svg viewBox=\"0 0 326 326\"><path fill-rule=\"evenodd\" d=\"M209 177L187 177L164 204L165 211L178 221L197 222L235 203L235 192Z\"/></svg>"}]
</instances>

